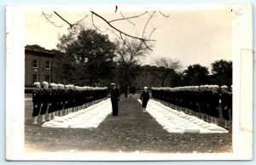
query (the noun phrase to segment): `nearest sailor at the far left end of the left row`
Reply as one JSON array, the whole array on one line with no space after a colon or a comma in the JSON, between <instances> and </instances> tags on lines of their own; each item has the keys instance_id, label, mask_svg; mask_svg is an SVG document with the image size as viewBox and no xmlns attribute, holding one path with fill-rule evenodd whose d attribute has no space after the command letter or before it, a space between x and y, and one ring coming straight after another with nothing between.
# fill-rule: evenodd
<instances>
[{"instance_id":1,"label":"nearest sailor at the far left end of the left row","mask_svg":"<svg viewBox=\"0 0 256 165\"><path fill-rule=\"evenodd\" d=\"M32 91L32 102L33 102L33 111L32 111L32 118L33 118L33 125L38 124L38 114L41 109L41 89L40 89L40 83L36 82L34 83L36 88Z\"/></svg>"}]
</instances>

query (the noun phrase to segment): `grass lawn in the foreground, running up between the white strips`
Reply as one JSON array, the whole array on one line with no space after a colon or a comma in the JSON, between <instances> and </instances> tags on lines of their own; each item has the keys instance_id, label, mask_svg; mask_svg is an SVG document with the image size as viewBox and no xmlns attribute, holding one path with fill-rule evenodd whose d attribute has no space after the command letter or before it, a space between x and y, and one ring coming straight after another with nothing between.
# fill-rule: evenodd
<instances>
[{"instance_id":1,"label":"grass lawn in the foreground, running up between the white strips","mask_svg":"<svg viewBox=\"0 0 256 165\"><path fill-rule=\"evenodd\" d=\"M90 129L32 125L32 100L25 100L25 106L26 152L232 152L231 130L227 134L170 134L148 113L143 113L137 98L122 98L119 117L108 115L98 128Z\"/></svg>"}]
</instances>

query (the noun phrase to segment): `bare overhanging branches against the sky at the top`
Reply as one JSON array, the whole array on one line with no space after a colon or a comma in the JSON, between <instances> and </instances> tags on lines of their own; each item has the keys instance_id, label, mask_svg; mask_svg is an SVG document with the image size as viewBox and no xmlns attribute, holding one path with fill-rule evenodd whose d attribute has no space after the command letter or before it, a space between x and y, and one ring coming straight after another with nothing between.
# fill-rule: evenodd
<instances>
[{"instance_id":1,"label":"bare overhanging branches against the sky at the top","mask_svg":"<svg viewBox=\"0 0 256 165\"><path fill-rule=\"evenodd\" d=\"M168 18L169 15L163 14L160 11L145 11L142 14L134 14L131 16L125 16L121 11L117 12L117 9L118 9L117 5L115 5L113 9L115 9L115 16L117 16L117 18L111 19L111 20L106 18L106 16L102 16L102 14L96 13L95 11L90 11L89 14L84 15L83 19L77 20L74 23L70 23L70 21L68 21L67 19L62 17L60 13L57 13L55 11L53 11L52 14L46 14L46 13L42 12L42 15L44 15L45 19L48 20L52 25L54 25L56 27L62 27L62 25L58 25L57 23L55 23L54 16L56 15L59 20L61 19L63 22L65 22L69 26L69 28L72 30L76 29L77 26L80 26L81 22L83 22L83 20L90 19L92 26L94 26L97 31L100 31L100 32L112 31L114 34L116 34L120 38L129 37L129 38L138 40L141 43L143 43L146 48L152 50L150 48L150 46L148 46L148 44L155 41L155 39L151 39L151 36L154 33L154 31L156 30L156 27L154 26L153 28L148 29L149 21L152 20L154 18L154 16L157 14L159 14L161 17L166 17L166 18ZM90 15L90 17L89 17L89 15ZM142 35L140 37L138 37L135 34L125 32L120 27L116 26L117 22L121 22L122 25L128 24L128 25L132 25L135 27L136 23L134 23L133 20L139 20L139 18L144 18L143 31L142 31ZM96 19L102 20L107 27L102 28L100 26L96 26ZM142 20L139 20L139 21L142 21ZM104 29L104 30L102 30L102 29ZM145 34L148 34L148 35L146 36Z\"/></svg>"}]
</instances>

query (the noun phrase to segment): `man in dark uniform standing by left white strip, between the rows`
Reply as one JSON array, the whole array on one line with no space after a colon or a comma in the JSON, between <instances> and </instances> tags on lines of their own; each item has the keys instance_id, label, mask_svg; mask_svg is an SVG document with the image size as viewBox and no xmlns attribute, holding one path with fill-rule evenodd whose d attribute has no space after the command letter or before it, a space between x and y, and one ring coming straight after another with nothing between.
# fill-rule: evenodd
<instances>
[{"instance_id":1,"label":"man in dark uniform standing by left white strip, between the rows","mask_svg":"<svg viewBox=\"0 0 256 165\"><path fill-rule=\"evenodd\" d=\"M112 86L112 91L111 91L111 103L112 103L112 115L113 116L118 116L119 115L119 103L118 101L120 100L120 93L119 89L116 88L115 83L111 83Z\"/></svg>"}]
</instances>

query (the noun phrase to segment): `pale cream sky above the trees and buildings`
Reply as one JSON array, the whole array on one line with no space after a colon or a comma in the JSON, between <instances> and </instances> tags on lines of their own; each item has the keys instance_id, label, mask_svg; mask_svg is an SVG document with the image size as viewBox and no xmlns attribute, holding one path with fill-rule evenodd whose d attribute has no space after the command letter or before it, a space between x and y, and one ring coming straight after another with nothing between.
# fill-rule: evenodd
<instances>
[{"instance_id":1,"label":"pale cream sky above the trees and buildings","mask_svg":"<svg viewBox=\"0 0 256 165\"><path fill-rule=\"evenodd\" d=\"M106 20L121 18L120 11L103 12L95 11L104 16ZM121 11L125 17L143 14L144 11ZM56 27L49 20L46 20L41 11L29 12L25 14L25 40L26 44L38 44L41 47L52 49L59 43L58 37L66 34L68 25L56 14L50 11L45 14L52 14L49 18L55 22ZM74 23L82 20L82 24L91 28L90 12L61 12L58 14ZM168 15L164 17L162 14ZM121 31L125 31L133 36L142 37L143 29L148 21L149 14L137 19L113 22ZM103 34L108 34L111 40L116 37L105 22L94 17L96 26L102 31L108 30ZM232 14L230 10L206 10L206 11L161 11L154 14L149 20L144 36L154 29L151 39L154 39L154 47L149 54L142 60L143 65L152 65L155 58L167 57L180 60L183 69L188 65L200 64L207 66L215 60L232 60Z\"/></svg>"}]
</instances>

